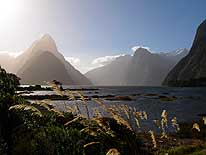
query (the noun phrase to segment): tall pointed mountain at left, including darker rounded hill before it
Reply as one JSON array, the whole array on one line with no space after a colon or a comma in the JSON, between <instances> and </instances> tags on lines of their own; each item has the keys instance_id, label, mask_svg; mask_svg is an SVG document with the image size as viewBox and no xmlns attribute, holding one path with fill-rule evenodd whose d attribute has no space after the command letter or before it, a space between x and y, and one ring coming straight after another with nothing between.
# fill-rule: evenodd
<instances>
[{"instance_id":1,"label":"tall pointed mountain at left, including darker rounded hill before it","mask_svg":"<svg viewBox=\"0 0 206 155\"><path fill-rule=\"evenodd\" d=\"M69 85L91 84L58 52L56 43L49 34L36 40L21 55L13 58L12 62L12 67L5 63L2 63L2 67L16 73L21 78L21 84L45 84L44 81L51 80Z\"/></svg>"}]
</instances>

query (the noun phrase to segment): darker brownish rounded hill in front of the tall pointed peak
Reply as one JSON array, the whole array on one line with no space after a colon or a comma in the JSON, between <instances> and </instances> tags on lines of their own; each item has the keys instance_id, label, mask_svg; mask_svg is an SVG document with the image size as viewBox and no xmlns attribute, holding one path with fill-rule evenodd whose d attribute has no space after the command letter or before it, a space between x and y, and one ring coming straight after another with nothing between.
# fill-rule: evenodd
<instances>
[{"instance_id":1,"label":"darker brownish rounded hill in front of the tall pointed peak","mask_svg":"<svg viewBox=\"0 0 206 155\"><path fill-rule=\"evenodd\" d=\"M44 81L54 79L64 84L74 83L64 64L51 52L43 52L29 60L21 70L20 77L23 84L45 84Z\"/></svg>"}]
</instances>

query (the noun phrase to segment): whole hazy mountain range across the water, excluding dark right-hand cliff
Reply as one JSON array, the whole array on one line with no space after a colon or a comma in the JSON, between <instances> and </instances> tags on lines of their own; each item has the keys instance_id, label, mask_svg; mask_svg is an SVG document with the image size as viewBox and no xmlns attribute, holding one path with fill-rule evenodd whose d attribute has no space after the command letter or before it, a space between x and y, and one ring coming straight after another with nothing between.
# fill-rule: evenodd
<instances>
[{"instance_id":1,"label":"whole hazy mountain range across the water, excluding dark right-hand cliff","mask_svg":"<svg viewBox=\"0 0 206 155\"><path fill-rule=\"evenodd\" d=\"M68 85L90 85L92 81L95 85L160 86L168 72L187 54L187 49L151 53L139 47L133 56L119 56L83 75L65 60L55 41L46 34L15 59L0 55L0 64L21 77L22 84L43 84L55 79Z\"/></svg>"}]
</instances>

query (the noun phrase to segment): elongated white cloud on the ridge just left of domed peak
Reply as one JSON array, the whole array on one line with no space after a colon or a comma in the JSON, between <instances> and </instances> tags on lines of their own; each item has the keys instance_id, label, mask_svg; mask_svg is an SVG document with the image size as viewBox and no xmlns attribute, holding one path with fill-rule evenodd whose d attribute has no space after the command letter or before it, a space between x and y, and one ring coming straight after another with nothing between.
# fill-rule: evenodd
<instances>
[{"instance_id":1,"label":"elongated white cloud on the ridge just left of domed peak","mask_svg":"<svg viewBox=\"0 0 206 155\"><path fill-rule=\"evenodd\" d=\"M92 65L95 66L95 68L102 67L102 66L105 66L107 64L110 64L112 61L114 61L115 59L117 59L121 56L125 56L125 54L99 57L99 58L96 58L92 61Z\"/></svg>"}]
</instances>

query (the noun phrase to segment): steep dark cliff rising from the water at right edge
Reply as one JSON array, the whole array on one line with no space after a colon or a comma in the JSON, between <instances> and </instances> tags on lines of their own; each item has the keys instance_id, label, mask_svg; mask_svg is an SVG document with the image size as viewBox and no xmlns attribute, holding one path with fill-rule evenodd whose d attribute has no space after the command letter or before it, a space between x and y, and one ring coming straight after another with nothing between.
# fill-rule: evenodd
<instances>
[{"instance_id":1,"label":"steep dark cliff rising from the water at right edge","mask_svg":"<svg viewBox=\"0 0 206 155\"><path fill-rule=\"evenodd\" d=\"M163 85L206 86L206 20L199 25L189 54L169 72Z\"/></svg>"}]
</instances>

